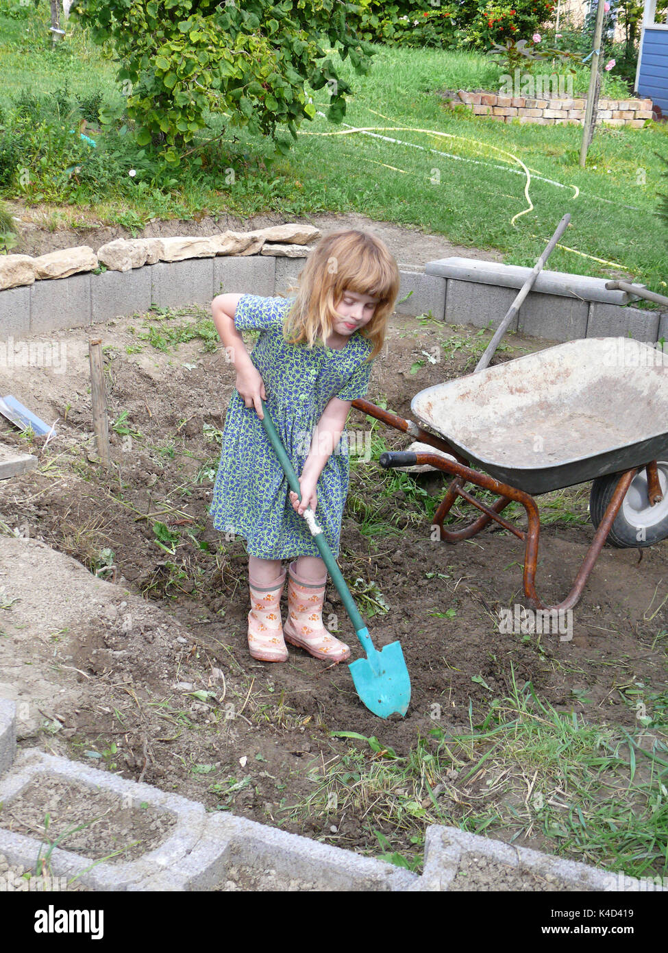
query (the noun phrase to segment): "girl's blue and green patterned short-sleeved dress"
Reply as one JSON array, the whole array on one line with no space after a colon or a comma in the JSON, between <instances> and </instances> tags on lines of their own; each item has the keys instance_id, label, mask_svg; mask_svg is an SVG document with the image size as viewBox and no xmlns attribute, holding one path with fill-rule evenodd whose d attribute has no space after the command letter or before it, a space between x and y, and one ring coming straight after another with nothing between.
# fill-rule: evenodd
<instances>
[{"instance_id":1,"label":"girl's blue and green patterned short-sleeved dress","mask_svg":"<svg viewBox=\"0 0 668 953\"><path fill-rule=\"evenodd\" d=\"M292 299L244 294L234 313L237 330L260 332L251 360L265 384L267 406L297 476L309 454L314 426L332 397L366 394L372 344L355 332L346 346L288 344L283 319ZM315 516L338 556L348 494L347 435L342 435L317 482ZM262 421L236 390L228 405L210 513L215 529L246 540L249 556L293 559L319 556L304 517L290 502L290 486Z\"/></svg>"}]
</instances>

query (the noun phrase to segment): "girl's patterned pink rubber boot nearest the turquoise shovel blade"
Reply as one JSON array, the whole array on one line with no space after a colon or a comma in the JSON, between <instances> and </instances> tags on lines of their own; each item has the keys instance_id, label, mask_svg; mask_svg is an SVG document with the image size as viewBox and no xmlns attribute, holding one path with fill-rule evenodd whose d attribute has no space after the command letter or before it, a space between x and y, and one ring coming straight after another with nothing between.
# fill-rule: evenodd
<instances>
[{"instance_id":1,"label":"girl's patterned pink rubber boot nearest the turquoise shovel blade","mask_svg":"<svg viewBox=\"0 0 668 953\"><path fill-rule=\"evenodd\" d=\"M296 563L291 562L288 572L288 618L285 623L285 640L291 645L327 661L350 659L351 650L343 642L334 639L322 624L322 606L325 601L327 578L322 582L309 582L297 576Z\"/></svg>"}]
</instances>

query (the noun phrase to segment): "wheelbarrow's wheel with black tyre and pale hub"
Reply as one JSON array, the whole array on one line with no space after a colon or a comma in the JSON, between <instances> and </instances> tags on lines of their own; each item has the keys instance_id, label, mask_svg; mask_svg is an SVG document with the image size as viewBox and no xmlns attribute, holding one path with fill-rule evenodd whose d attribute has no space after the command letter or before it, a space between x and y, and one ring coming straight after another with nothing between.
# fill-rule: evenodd
<instances>
[{"instance_id":1,"label":"wheelbarrow's wheel with black tyre and pale hub","mask_svg":"<svg viewBox=\"0 0 668 953\"><path fill-rule=\"evenodd\" d=\"M608 542L619 549L652 546L668 537L668 462L657 463L663 499L650 506L647 497L647 472L639 470L624 497L608 535ZM619 474L597 476L589 495L589 516L598 528L608 503L615 493Z\"/></svg>"}]
</instances>

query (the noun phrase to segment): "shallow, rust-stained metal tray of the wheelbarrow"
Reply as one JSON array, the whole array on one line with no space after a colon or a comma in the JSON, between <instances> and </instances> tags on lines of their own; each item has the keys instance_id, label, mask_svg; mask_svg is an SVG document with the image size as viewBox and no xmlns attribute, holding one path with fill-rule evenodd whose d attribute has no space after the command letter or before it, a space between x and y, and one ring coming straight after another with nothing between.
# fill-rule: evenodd
<instances>
[{"instance_id":1,"label":"shallow, rust-stained metal tray of the wheelbarrow","mask_svg":"<svg viewBox=\"0 0 668 953\"><path fill-rule=\"evenodd\" d=\"M590 337L428 387L411 410L486 473L547 493L668 453L667 372L656 348Z\"/></svg>"}]
</instances>

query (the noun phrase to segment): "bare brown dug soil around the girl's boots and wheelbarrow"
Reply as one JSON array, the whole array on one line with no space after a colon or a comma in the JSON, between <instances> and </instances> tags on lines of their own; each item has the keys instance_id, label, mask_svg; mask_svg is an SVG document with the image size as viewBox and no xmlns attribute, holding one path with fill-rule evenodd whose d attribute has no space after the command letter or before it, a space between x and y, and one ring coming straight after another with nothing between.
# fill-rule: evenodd
<instances>
[{"instance_id":1,"label":"bare brown dug soil around the girl's boots and wheelbarrow","mask_svg":"<svg viewBox=\"0 0 668 953\"><path fill-rule=\"evenodd\" d=\"M201 316L151 324L160 332ZM635 724L620 688L641 681L663 690L665 542L641 561L637 550L604 548L571 641L501 633L496 610L523 600L521 543L495 530L455 546L433 541L419 488L440 497L442 476L417 476L411 492L389 495L373 460L354 468L340 565L366 618L374 603L365 591L390 606L370 618L370 630L378 646L401 642L413 689L406 718L375 718L346 665L328 668L298 649L284 664L251 659L243 542L221 538L207 516L233 368L198 338L157 350L139 339L142 321L95 327L116 422L108 473L92 436L86 329L50 337L66 345L65 368L0 369L0 393L56 421L57 431L46 447L9 425L0 433L39 457L36 471L0 484L0 518L13 534L0 536L0 695L18 702L20 744L87 763L86 752L97 752L99 766L212 810L365 853L378 852L378 831L401 851L411 846L382 804L366 816L299 809L335 756L365 747L333 732L375 736L406 756L435 720L456 730L470 712L488 711L511 691L512 672L557 709L601 723ZM369 399L410 416L419 390L473 369L476 334L395 316ZM512 350L496 361L548 346L508 341ZM440 360L431 363L425 352L436 347ZM351 423L371 429L357 412ZM380 425L374 433L391 447L410 442ZM549 517L536 576L546 602L570 590L593 537L587 500L588 487L539 500ZM325 610L358 658L334 589ZM45 797L40 806L48 804ZM455 802L441 798L440 806L456 823Z\"/></svg>"}]
</instances>

